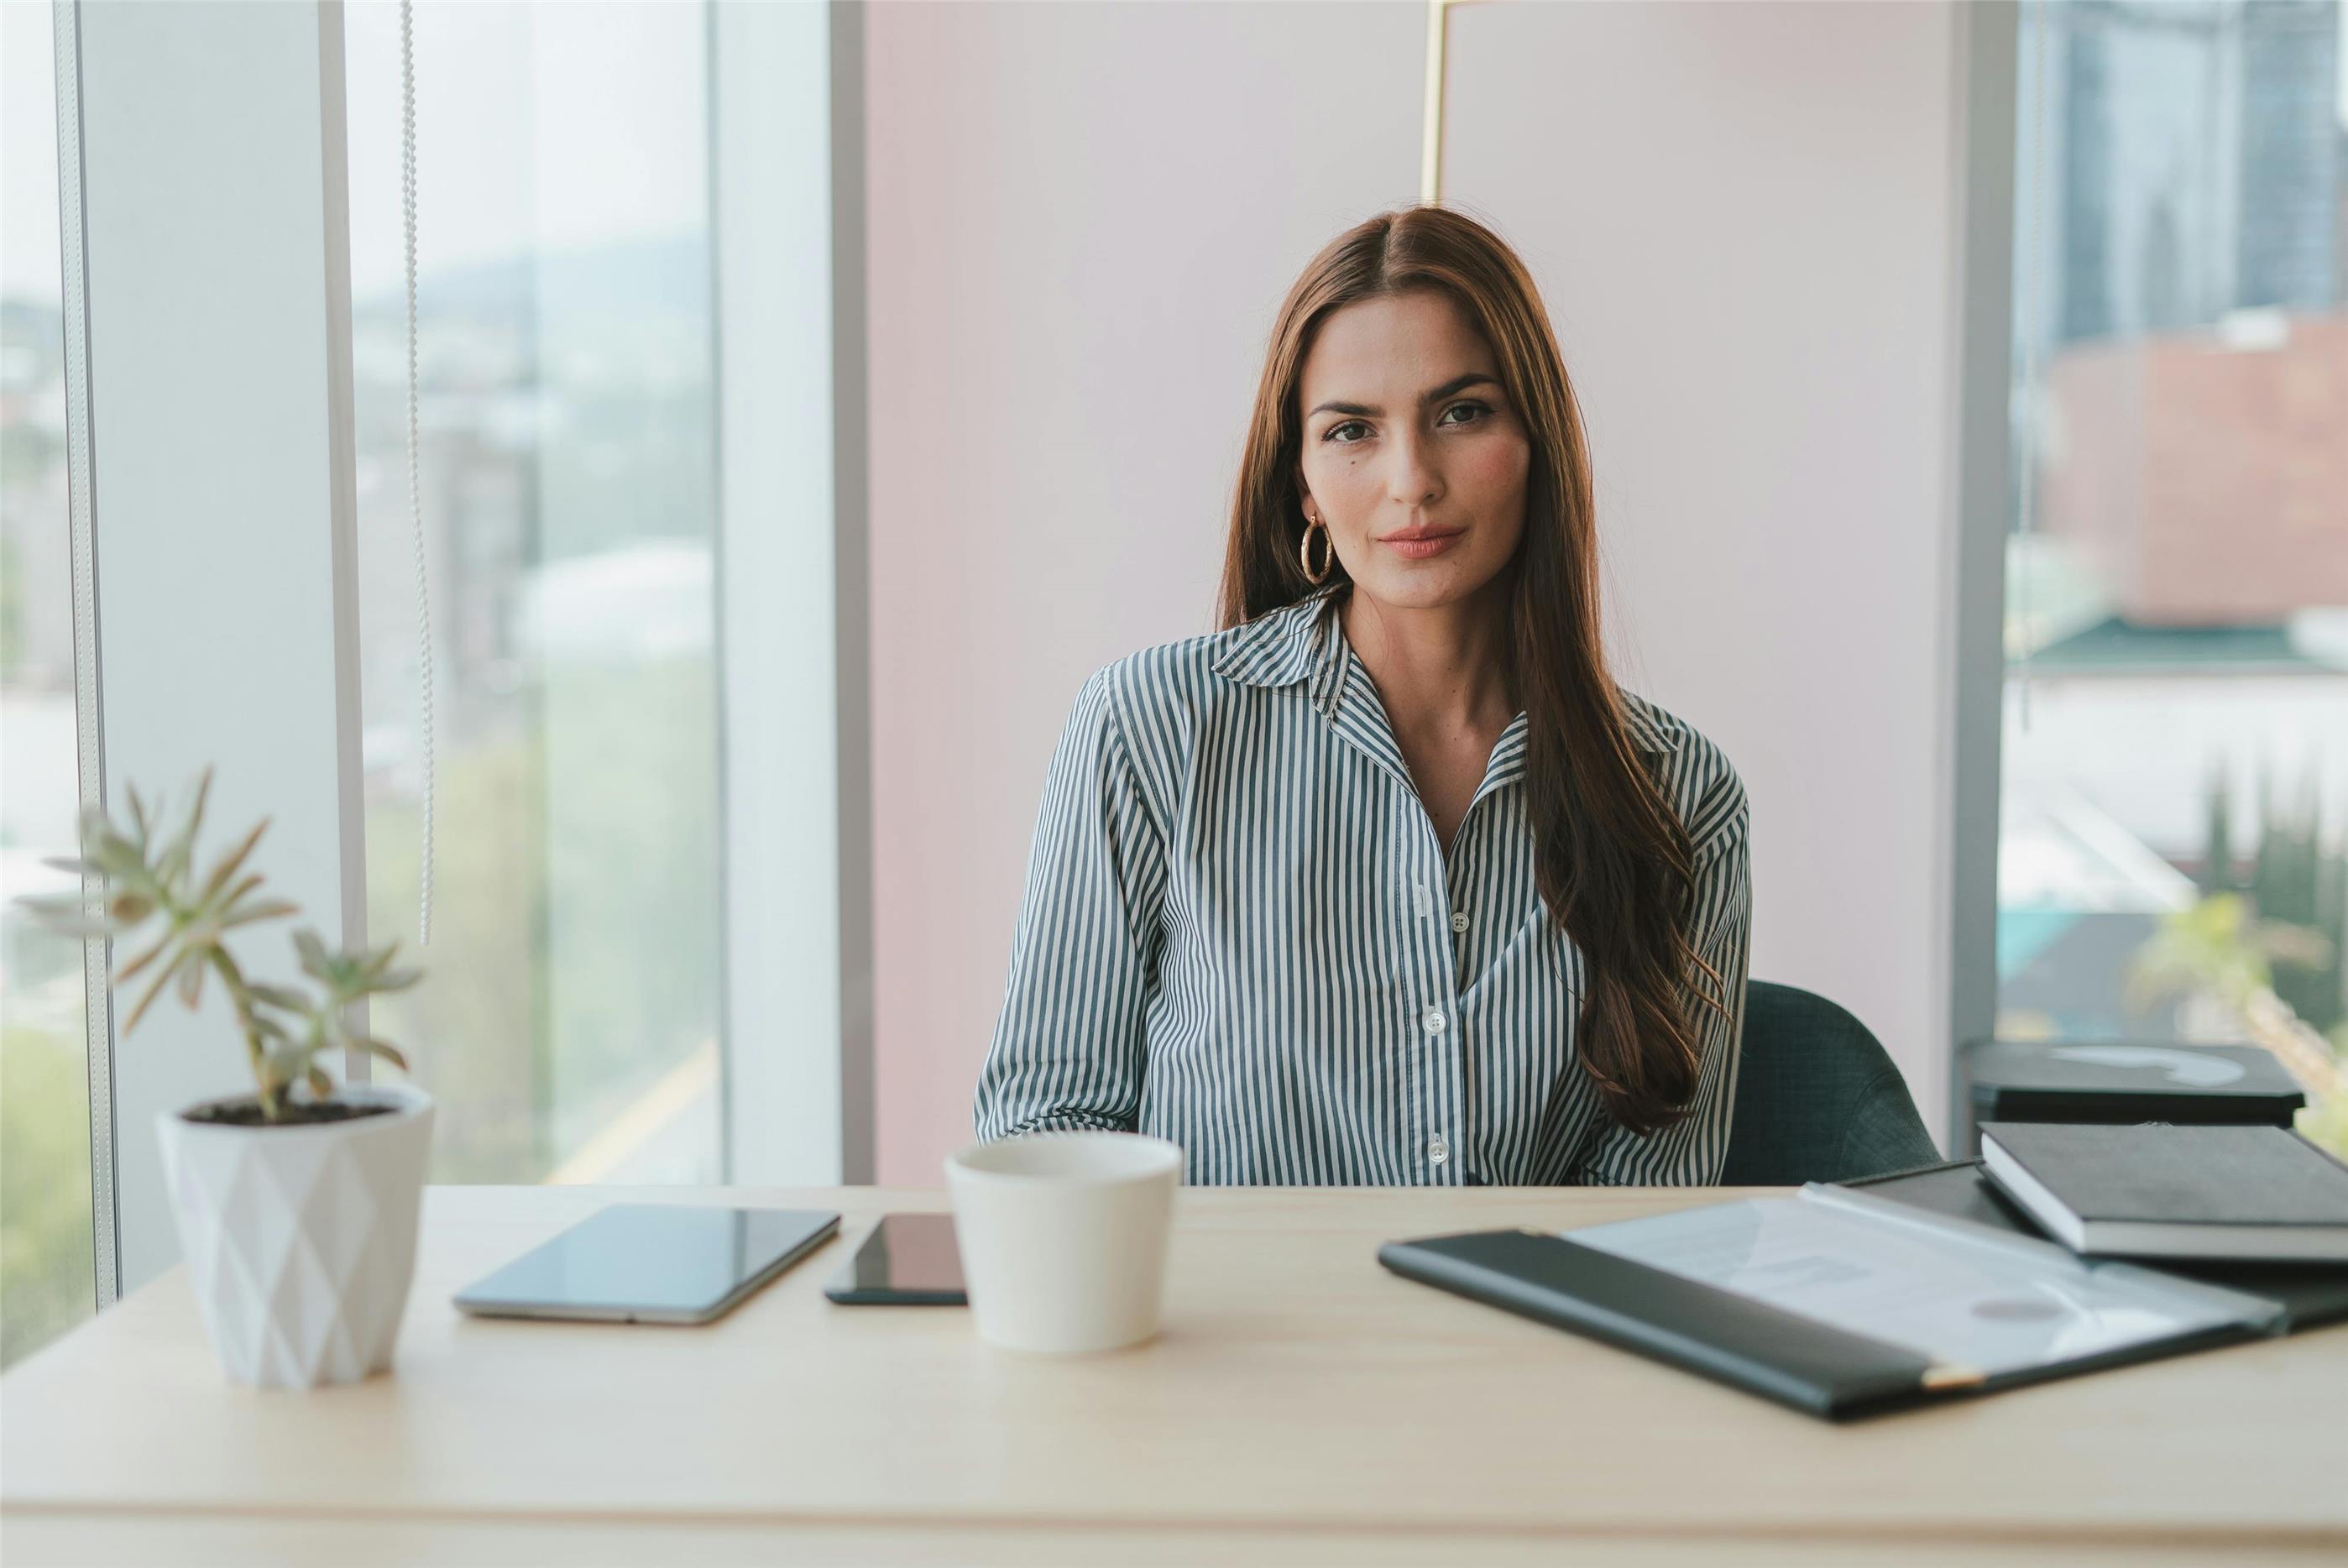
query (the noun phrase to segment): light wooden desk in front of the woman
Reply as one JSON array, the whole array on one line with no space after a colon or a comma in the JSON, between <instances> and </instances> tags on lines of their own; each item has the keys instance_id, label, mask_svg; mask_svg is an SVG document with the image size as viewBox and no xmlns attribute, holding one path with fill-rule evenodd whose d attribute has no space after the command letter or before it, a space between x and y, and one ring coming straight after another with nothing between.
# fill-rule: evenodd
<instances>
[{"instance_id":1,"label":"light wooden desk in front of the woman","mask_svg":"<svg viewBox=\"0 0 2348 1568\"><path fill-rule=\"evenodd\" d=\"M843 1211L704 1329L448 1296L613 1199ZM35 1563L2339 1563L2348 1331L1831 1427L1397 1279L1392 1237L1702 1190L1186 1190L1167 1331L993 1352L834 1307L939 1192L434 1188L394 1376L232 1387L164 1275L0 1380L0 1552Z\"/></svg>"}]
</instances>

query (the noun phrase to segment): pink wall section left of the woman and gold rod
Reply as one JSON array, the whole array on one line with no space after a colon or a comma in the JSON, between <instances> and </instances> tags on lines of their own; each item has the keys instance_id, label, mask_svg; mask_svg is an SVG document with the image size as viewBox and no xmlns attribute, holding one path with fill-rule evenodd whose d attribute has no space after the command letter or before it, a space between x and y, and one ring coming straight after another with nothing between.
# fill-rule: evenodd
<instances>
[{"instance_id":1,"label":"pink wall section left of the woman and gold rod","mask_svg":"<svg viewBox=\"0 0 2348 1568\"><path fill-rule=\"evenodd\" d=\"M1418 178L1409 5L866 9L878 1178L970 1141L1052 742L1209 629L1280 293Z\"/></svg>"}]
</instances>

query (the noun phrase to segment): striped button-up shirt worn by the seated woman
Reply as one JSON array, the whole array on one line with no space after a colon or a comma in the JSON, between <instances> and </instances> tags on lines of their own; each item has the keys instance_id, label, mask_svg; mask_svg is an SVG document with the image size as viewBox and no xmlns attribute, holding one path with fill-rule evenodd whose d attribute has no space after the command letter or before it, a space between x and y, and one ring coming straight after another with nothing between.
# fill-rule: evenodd
<instances>
[{"instance_id":1,"label":"striped button-up shirt worn by the seated woman","mask_svg":"<svg viewBox=\"0 0 2348 1568\"><path fill-rule=\"evenodd\" d=\"M1622 692L1695 845L1691 1115L1637 1136L1576 1063L1580 946L1533 883L1526 716L1449 859L1336 589L1099 669L1052 756L977 1131L1172 1138L1193 1183L1709 1183L1728 1148L1745 786ZM1709 991L1709 981L1705 986Z\"/></svg>"}]
</instances>

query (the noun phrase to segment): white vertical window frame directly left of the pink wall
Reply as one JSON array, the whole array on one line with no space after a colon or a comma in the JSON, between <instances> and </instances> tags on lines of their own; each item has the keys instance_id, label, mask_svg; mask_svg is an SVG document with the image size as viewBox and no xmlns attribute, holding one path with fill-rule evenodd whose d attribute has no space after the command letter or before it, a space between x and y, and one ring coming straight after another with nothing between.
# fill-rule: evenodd
<instances>
[{"instance_id":1,"label":"white vertical window frame directly left of the pink wall","mask_svg":"<svg viewBox=\"0 0 2348 1568\"><path fill-rule=\"evenodd\" d=\"M862 7L714 0L709 103L723 1169L869 1183Z\"/></svg>"}]
</instances>

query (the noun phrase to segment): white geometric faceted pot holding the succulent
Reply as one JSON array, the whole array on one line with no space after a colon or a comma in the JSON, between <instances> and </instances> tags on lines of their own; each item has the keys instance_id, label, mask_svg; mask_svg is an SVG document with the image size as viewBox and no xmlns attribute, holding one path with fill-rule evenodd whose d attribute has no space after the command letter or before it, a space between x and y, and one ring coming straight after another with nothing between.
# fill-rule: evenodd
<instances>
[{"instance_id":1,"label":"white geometric faceted pot holding the succulent","mask_svg":"<svg viewBox=\"0 0 2348 1568\"><path fill-rule=\"evenodd\" d=\"M155 1117L178 1251L235 1383L357 1383L392 1364L432 1099L406 1084L343 1084L336 1099L392 1110L294 1127Z\"/></svg>"}]
</instances>

